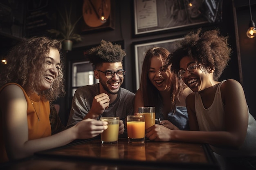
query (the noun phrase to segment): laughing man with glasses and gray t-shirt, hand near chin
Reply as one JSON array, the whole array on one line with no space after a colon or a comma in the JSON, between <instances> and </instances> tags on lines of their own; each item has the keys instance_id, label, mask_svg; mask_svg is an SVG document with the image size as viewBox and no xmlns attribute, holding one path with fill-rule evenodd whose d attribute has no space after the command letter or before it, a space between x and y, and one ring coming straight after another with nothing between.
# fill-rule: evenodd
<instances>
[{"instance_id":1,"label":"laughing man with glasses and gray t-shirt, hand near chin","mask_svg":"<svg viewBox=\"0 0 256 170\"><path fill-rule=\"evenodd\" d=\"M122 64L125 55L120 45L105 40L88 51L86 56L95 67L94 77L99 83L76 90L66 128L83 119L119 117L119 134L124 132L124 120L127 115L133 115L135 97L134 93L121 88L126 73Z\"/></svg>"}]
</instances>

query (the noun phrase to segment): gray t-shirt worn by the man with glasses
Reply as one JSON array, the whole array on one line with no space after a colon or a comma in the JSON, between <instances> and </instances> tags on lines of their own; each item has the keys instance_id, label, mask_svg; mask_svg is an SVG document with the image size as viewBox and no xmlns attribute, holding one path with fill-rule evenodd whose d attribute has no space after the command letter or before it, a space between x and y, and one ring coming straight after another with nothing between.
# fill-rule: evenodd
<instances>
[{"instance_id":1,"label":"gray t-shirt worn by the man with glasses","mask_svg":"<svg viewBox=\"0 0 256 170\"><path fill-rule=\"evenodd\" d=\"M70 128L83 120L92 106L94 96L99 95L99 83L79 87L72 99L70 116L67 121L66 128ZM109 107L101 114L102 117L119 117L120 120L125 119L127 115L133 115L133 104L135 94L121 88L117 99L112 102ZM98 117L99 119L99 117Z\"/></svg>"}]
</instances>

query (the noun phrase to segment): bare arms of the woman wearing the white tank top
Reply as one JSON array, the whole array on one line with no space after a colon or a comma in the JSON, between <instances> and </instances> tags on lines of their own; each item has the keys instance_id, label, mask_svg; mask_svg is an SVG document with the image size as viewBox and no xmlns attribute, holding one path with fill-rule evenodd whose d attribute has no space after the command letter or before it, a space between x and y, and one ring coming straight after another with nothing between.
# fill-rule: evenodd
<instances>
[{"instance_id":1,"label":"bare arms of the woman wearing the white tank top","mask_svg":"<svg viewBox=\"0 0 256 170\"><path fill-rule=\"evenodd\" d=\"M214 146L238 149L242 146L248 126L248 110L242 86L235 80L227 80L221 86L222 100L225 104L225 131L197 131L194 102L188 103L189 123L192 130L169 130L163 126L151 126L146 137L155 141L184 141L207 143ZM193 97L192 97L193 98ZM164 132L164 133L163 133Z\"/></svg>"}]
</instances>

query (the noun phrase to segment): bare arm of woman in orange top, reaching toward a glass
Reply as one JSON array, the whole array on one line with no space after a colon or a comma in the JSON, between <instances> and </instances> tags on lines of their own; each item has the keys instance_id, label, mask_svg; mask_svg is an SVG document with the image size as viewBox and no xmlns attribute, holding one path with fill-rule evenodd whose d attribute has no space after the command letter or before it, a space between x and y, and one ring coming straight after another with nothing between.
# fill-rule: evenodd
<instances>
[{"instance_id":1,"label":"bare arm of woman in orange top, reaching toward a glass","mask_svg":"<svg viewBox=\"0 0 256 170\"><path fill-rule=\"evenodd\" d=\"M29 140L27 101L20 87L9 85L2 90L0 108L3 115L4 143L9 159L24 158L34 152L63 146L74 139L92 138L107 128L104 126L106 121L86 119L56 135Z\"/></svg>"}]
</instances>

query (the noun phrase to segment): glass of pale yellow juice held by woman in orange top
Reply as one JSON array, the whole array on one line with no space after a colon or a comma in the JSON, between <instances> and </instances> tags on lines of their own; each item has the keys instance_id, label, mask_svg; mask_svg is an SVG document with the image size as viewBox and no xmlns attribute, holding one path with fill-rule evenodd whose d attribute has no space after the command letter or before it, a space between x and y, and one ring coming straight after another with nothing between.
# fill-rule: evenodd
<instances>
[{"instance_id":1,"label":"glass of pale yellow juice held by woman in orange top","mask_svg":"<svg viewBox=\"0 0 256 170\"><path fill-rule=\"evenodd\" d=\"M101 144L117 144L119 117L101 117L100 121L108 122L108 128L101 133Z\"/></svg>"}]
</instances>

